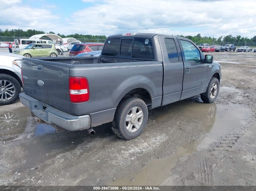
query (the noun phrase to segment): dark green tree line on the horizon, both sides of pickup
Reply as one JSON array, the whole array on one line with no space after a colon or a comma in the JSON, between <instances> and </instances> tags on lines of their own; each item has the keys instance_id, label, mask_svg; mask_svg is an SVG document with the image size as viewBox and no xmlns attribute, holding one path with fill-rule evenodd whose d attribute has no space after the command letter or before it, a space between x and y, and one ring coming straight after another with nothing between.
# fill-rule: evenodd
<instances>
[{"instance_id":1,"label":"dark green tree line on the horizon, both sides of pickup","mask_svg":"<svg viewBox=\"0 0 256 191\"><path fill-rule=\"evenodd\" d=\"M0 36L5 36L5 37L31 37L35 34L42 34L42 33L45 33L44 31L41 31L41 30L32 30L32 29L29 29L27 31L24 31L22 29L12 29L12 30L8 30L8 29L5 29L5 30L1 30L0 29ZM54 32L50 31L49 33L53 33L55 34ZM45 33L47 34L47 33ZM91 35L91 34L87 34L87 35L84 35L84 34L78 34L78 33L75 33L75 34L70 34L70 35L64 35L64 34L60 34L60 33L57 33L58 36L62 37L62 38L66 38L66 37L73 37L75 39L106 39L107 36L105 35ZM221 37L218 37L218 38L215 38L215 37L201 37L201 34L197 34L195 36L191 36L191 35L188 35L188 36L183 36L183 35L177 35L177 36L180 36L180 37L185 37L185 38L188 38L190 40L192 40L194 43L196 43L197 45L201 44L201 43L208 43L210 45L213 45L213 44L221 44L221 42L225 42L225 43L244 43L244 42L247 42L247 43L256 43L256 36L252 37L252 38L248 38L248 37L241 37L241 35L237 35L235 37L233 37L231 34L230 35L227 35L227 36L221 36Z\"/></svg>"}]
</instances>

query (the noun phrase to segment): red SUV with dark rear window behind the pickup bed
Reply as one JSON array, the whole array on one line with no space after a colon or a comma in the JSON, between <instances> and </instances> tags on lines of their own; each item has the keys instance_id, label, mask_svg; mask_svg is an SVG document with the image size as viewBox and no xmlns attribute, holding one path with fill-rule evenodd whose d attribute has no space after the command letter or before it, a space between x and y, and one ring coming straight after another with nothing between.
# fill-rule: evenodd
<instances>
[{"instance_id":1,"label":"red SUV with dark rear window behind the pickup bed","mask_svg":"<svg viewBox=\"0 0 256 191\"><path fill-rule=\"evenodd\" d=\"M69 56L76 56L81 53L88 53L102 50L104 43L77 43L69 51Z\"/></svg>"}]
</instances>

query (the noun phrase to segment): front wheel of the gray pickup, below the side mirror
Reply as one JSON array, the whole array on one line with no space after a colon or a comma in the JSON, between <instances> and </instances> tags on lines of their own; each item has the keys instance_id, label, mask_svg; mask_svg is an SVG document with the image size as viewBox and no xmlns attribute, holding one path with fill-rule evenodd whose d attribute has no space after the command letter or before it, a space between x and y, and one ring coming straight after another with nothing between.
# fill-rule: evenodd
<instances>
[{"instance_id":1,"label":"front wheel of the gray pickup, below the side mirror","mask_svg":"<svg viewBox=\"0 0 256 191\"><path fill-rule=\"evenodd\" d=\"M201 94L201 99L205 103L212 103L214 102L219 94L220 90L220 82L217 78L211 78L206 92Z\"/></svg>"}]
</instances>

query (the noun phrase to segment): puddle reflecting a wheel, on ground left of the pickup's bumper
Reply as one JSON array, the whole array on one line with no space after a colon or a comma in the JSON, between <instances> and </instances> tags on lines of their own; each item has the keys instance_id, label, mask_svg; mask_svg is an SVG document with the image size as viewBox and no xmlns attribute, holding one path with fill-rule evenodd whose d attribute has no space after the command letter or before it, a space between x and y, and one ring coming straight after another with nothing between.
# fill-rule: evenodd
<instances>
[{"instance_id":1,"label":"puddle reflecting a wheel, on ground left of the pickup's bumper","mask_svg":"<svg viewBox=\"0 0 256 191\"><path fill-rule=\"evenodd\" d=\"M38 124L36 117L31 117L30 109L27 107L0 113L0 141L24 139L54 132L54 127Z\"/></svg>"}]
</instances>

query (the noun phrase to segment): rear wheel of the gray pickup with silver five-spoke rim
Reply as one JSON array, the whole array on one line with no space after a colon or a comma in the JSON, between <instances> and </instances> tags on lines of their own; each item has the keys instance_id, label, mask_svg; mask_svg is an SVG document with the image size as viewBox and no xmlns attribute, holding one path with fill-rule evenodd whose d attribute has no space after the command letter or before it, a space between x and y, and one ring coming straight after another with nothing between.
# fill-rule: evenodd
<instances>
[{"instance_id":1,"label":"rear wheel of the gray pickup with silver five-spoke rim","mask_svg":"<svg viewBox=\"0 0 256 191\"><path fill-rule=\"evenodd\" d=\"M112 131L125 140L138 137L148 120L146 103L136 97L128 97L119 103L112 125Z\"/></svg>"}]
</instances>

